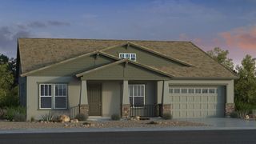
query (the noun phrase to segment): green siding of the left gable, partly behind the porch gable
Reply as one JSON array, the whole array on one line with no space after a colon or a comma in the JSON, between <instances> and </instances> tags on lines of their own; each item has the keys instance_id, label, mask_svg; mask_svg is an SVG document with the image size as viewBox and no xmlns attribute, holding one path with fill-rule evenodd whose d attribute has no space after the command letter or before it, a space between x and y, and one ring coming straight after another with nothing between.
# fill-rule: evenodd
<instances>
[{"instance_id":1,"label":"green siding of the left gable, partly behind the porch gable","mask_svg":"<svg viewBox=\"0 0 256 144\"><path fill-rule=\"evenodd\" d=\"M76 58L70 62L64 62L62 64L47 68L45 70L40 70L31 74L32 76L70 76L74 74L81 73L86 70L94 69L98 66L103 66L114 62L113 59L107 58L102 55L98 55L95 58L94 55L84 56L82 58Z\"/></svg>"}]
</instances>

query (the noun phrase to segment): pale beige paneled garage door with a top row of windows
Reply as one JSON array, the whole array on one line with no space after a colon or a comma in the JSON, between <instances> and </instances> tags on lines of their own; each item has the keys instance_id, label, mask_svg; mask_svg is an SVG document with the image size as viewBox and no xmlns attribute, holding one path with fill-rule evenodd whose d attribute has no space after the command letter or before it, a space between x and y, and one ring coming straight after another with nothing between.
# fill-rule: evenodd
<instances>
[{"instance_id":1,"label":"pale beige paneled garage door with a top row of windows","mask_svg":"<svg viewBox=\"0 0 256 144\"><path fill-rule=\"evenodd\" d=\"M224 117L224 86L170 86L174 118Z\"/></svg>"}]
</instances>

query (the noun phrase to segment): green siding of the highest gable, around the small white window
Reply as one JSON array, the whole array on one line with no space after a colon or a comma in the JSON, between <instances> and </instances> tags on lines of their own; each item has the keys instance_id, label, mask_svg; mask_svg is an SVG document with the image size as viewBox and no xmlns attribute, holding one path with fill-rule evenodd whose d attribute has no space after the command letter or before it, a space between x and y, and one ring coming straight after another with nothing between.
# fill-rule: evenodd
<instances>
[{"instance_id":1,"label":"green siding of the highest gable, around the small white window","mask_svg":"<svg viewBox=\"0 0 256 144\"><path fill-rule=\"evenodd\" d=\"M115 57L119 57L119 53L134 53L136 54L137 62L148 66L184 66L178 62L174 62L167 58L162 58L156 54L141 50L134 46L119 46L105 51L107 54L112 54Z\"/></svg>"}]
</instances>

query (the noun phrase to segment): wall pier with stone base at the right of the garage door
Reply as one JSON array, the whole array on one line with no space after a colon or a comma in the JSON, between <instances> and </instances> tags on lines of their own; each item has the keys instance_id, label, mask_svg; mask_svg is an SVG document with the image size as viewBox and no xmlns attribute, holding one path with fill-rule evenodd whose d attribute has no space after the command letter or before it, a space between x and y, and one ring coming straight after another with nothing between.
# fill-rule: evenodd
<instances>
[{"instance_id":1,"label":"wall pier with stone base at the right of the garage door","mask_svg":"<svg viewBox=\"0 0 256 144\"><path fill-rule=\"evenodd\" d=\"M229 117L234 111L234 80L231 80L226 85L226 105L225 105L225 115Z\"/></svg>"}]
</instances>

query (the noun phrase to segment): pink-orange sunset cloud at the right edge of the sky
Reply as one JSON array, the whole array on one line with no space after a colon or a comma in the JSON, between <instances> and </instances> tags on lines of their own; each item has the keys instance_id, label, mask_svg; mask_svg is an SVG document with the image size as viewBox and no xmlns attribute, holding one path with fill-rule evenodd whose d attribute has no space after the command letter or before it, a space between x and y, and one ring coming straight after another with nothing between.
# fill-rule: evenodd
<instances>
[{"instance_id":1,"label":"pink-orange sunset cloud at the right edge of the sky","mask_svg":"<svg viewBox=\"0 0 256 144\"><path fill-rule=\"evenodd\" d=\"M256 26L238 27L234 30L222 32L220 36L227 46L256 50Z\"/></svg>"}]
</instances>

